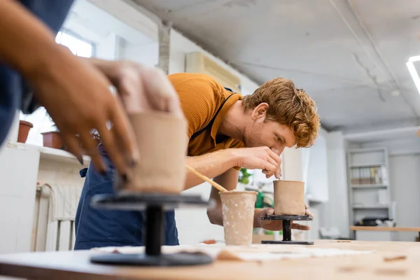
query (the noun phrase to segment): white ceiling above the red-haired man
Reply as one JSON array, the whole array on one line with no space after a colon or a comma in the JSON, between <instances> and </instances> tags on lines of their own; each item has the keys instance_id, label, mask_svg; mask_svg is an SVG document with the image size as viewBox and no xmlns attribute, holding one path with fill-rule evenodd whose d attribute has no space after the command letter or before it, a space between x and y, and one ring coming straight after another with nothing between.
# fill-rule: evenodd
<instances>
[{"instance_id":1,"label":"white ceiling above the red-haired man","mask_svg":"<svg viewBox=\"0 0 420 280\"><path fill-rule=\"evenodd\" d=\"M293 79L329 130L420 125L405 65L420 55L419 0L133 1L258 83Z\"/></svg>"}]
</instances>

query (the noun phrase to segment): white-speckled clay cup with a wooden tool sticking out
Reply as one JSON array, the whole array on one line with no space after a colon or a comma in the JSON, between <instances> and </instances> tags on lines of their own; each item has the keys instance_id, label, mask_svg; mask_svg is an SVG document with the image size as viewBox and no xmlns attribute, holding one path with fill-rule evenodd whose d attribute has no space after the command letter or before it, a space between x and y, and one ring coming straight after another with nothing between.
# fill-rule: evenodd
<instances>
[{"instance_id":1,"label":"white-speckled clay cup with a wooden tool sticking out","mask_svg":"<svg viewBox=\"0 0 420 280\"><path fill-rule=\"evenodd\" d=\"M220 193L226 245L252 243L256 192Z\"/></svg>"}]
</instances>

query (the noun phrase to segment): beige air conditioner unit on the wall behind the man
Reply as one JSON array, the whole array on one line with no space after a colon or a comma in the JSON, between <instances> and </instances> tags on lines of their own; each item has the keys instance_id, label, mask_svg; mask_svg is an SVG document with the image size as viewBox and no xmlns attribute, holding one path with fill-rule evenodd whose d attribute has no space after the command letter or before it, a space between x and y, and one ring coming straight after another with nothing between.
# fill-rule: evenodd
<instances>
[{"instance_id":1,"label":"beige air conditioner unit on the wall behind the man","mask_svg":"<svg viewBox=\"0 0 420 280\"><path fill-rule=\"evenodd\" d=\"M228 87L233 92L241 92L241 80L202 52L190 52L186 55L186 72L209 75L223 87Z\"/></svg>"}]
</instances>

